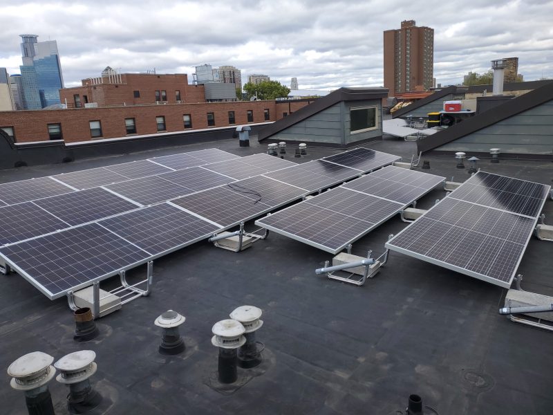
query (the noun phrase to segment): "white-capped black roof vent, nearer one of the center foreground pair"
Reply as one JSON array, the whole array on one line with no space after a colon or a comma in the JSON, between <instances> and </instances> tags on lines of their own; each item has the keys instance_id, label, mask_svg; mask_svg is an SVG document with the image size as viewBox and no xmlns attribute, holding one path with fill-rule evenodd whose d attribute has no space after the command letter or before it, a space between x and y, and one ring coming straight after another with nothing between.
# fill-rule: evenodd
<instances>
[{"instance_id":1,"label":"white-capped black roof vent, nearer one of the center foreground pair","mask_svg":"<svg viewBox=\"0 0 553 415\"><path fill-rule=\"evenodd\" d=\"M229 384L238 379L236 349L246 342L244 326L236 320L221 320L212 328L212 344L219 348L218 380Z\"/></svg>"}]
</instances>

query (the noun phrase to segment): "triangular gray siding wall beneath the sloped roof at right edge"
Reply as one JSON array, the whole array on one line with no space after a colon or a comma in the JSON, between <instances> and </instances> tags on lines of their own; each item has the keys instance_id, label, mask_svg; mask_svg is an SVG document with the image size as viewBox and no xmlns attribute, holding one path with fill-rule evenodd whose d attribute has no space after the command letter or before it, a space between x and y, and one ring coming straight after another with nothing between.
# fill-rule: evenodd
<instances>
[{"instance_id":1,"label":"triangular gray siding wall beneath the sloped roof at right edge","mask_svg":"<svg viewBox=\"0 0 553 415\"><path fill-rule=\"evenodd\" d=\"M553 100L449 142L436 150L488 152L493 147L500 148L502 153L551 154Z\"/></svg>"}]
</instances>

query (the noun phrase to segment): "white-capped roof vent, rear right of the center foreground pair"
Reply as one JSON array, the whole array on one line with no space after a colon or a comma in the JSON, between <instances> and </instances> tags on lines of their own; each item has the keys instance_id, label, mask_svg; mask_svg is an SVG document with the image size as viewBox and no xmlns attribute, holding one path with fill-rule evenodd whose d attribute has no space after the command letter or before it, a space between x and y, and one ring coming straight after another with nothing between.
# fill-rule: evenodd
<instances>
[{"instance_id":1,"label":"white-capped roof vent, rear right of the center foreground pair","mask_svg":"<svg viewBox=\"0 0 553 415\"><path fill-rule=\"evenodd\" d=\"M238 366L243 369L256 367L263 361L261 352L265 346L255 338L255 332L263 326L263 320L259 320L262 313L261 308L254 306L240 306L230 313L230 318L241 322L245 329L246 342L238 349Z\"/></svg>"}]
</instances>

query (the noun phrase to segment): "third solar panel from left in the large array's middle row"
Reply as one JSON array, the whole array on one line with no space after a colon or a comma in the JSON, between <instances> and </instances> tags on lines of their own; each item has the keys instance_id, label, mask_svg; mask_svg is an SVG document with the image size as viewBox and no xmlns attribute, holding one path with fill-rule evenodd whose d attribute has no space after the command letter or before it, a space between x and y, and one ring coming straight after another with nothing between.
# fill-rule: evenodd
<instances>
[{"instance_id":1,"label":"third solar panel from left in the large array's middle row","mask_svg":"<svg viewBox=\"0 0 553 415\"><path fill-rule=\"evenodd\" d=\"M120 194L142 205L151 205L192 193L188 187L177 185L160 176L135 178L134 180L105 186L106 189Z\"/></svg>"}]
</instances>

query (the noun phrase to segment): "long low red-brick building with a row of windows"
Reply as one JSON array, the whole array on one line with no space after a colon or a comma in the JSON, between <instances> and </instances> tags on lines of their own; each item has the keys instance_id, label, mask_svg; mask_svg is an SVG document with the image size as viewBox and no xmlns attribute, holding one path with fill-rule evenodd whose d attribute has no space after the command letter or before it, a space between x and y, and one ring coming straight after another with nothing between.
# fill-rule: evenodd
<instances>
[{"instance_id":1,"label":"long low red-brick building with a row of windows","mask_svg":"<svg viewBox=\"0 0 553 415\"><path fill-rule=\"evenodd\" d=\"M0 111L0 129L12 136L15 142L60 139L80 142L270 122L288 116L312 101L199 102L57 111Z\"/></svg>"}]
</instances>

